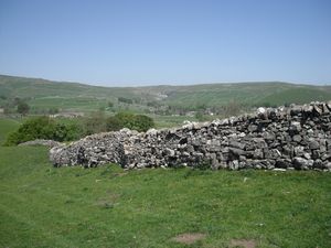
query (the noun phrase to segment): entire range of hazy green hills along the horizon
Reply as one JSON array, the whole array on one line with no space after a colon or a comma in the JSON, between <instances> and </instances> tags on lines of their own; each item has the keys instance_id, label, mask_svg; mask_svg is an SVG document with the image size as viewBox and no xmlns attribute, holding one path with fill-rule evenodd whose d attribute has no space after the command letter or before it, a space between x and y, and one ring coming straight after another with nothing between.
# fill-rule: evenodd
<instances>
[{"instance_id":1,"label":"entire range of hazy green hills along the horizon","mask_svg":"<svg viewBox=\"0 0 331 248\"><path fill-rule=\"evenodd\" d=\"M0 105L14 97L34 108L94 110L119 98L134 106L220 107L231 101L246 106L279 106L331 100L331 86L281 82L202 84L189 86L100 87L78 83L52 82L0 75Z\"/></svg>"}]
</instances>

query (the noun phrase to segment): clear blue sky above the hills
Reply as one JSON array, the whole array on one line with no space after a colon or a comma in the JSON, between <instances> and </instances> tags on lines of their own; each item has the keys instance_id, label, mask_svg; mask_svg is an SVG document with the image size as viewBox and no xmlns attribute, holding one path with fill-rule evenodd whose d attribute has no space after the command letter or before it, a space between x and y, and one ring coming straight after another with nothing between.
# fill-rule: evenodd
<instances>
[{"instance_id":1,"label":"clear blue sky above the hills","mask_svg":"<svg viewBox=\"0 0 331 248\"><path fill-rule=\"evenodd\" d=\"M0 0L0 74L108 86L331 83L329 0Z\"/></svg>"}]
</instances>

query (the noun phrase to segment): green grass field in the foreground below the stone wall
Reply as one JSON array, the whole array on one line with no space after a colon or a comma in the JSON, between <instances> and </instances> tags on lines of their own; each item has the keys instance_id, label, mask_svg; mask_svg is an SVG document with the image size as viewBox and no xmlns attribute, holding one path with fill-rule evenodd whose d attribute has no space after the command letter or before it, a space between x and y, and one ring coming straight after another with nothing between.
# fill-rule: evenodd
<instances>
[{"instance_id":1,"label":"green grass field in the foreground below the stone wall","mask_svg":"<svg viewBox=\"0 0 331 248\"><path fill-rule=\"evenodd\" d=\"M330 173L54 169L20 147L0 148L0 247L331 247Z\"/></svg>"}]
</instances>

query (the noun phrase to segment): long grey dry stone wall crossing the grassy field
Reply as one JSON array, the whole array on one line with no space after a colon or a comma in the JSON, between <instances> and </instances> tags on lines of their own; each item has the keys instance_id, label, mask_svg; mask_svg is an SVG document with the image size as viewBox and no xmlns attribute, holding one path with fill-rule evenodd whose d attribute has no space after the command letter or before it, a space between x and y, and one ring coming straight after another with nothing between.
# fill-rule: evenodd
<instances>
[{"instance_id":1,"label":"long grey dry stone wall crossing the grassy field","mask_svg":"<svg viewBox=\"0 0 331 248\"><path fill-rule=\"evenodd\" d=\"M175 129L86 137L50 151L55 166L331 170L331 103L258 108L254 115Z\"/></svg>"}]
</instances>

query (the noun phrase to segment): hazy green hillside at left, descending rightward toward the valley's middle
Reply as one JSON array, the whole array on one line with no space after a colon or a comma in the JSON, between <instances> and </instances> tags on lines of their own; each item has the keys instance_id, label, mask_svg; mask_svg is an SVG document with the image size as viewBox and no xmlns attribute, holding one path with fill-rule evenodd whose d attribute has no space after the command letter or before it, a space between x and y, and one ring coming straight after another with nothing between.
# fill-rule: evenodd
<instances>
[{"instance_id":1,"label":"hazy green hillside at left, descending rightward toward the valley's middle","mask_svg":"<svg viewBox=\"0 0 331 248\"><path fill-rule=\"evenodd\" d=\"M106 107L109 100L115 101L120 96L131 99L139 98L141 94L137 94L135 88L129 87L109 88L0 75L0 96L30 98L29 104L33 108L57 107L78 111L96 110L99 107Z\"/></svg>"}]
</instances>

